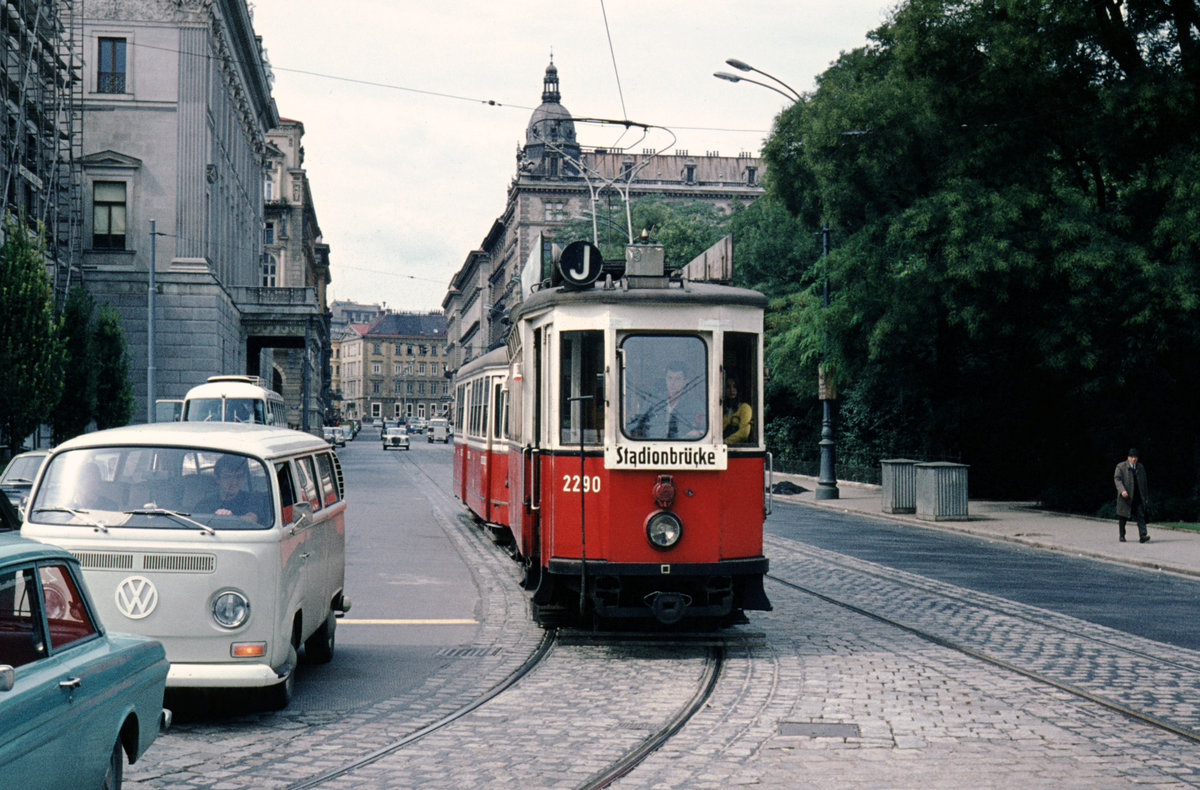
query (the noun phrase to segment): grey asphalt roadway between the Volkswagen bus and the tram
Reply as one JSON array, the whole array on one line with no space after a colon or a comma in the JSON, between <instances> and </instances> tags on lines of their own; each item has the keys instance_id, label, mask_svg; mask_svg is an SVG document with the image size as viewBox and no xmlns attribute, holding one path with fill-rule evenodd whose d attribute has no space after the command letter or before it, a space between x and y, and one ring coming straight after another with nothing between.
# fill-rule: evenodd
<instances>
[{"instance_id":1,"label":"grey asphalt roadway between the Volkswagen bus and the tram","mask_svg":"<svg viewBox=\"0 0 1200 790\"><path fill-rule=\"evenodd\" d=\"M384 450L365 427L338 448L346 477L346 591L334 662L301 665L289 711L348 710L419 686L472 644L479 593L448 540L450 444Z\"/></svg>"}]
</instances>

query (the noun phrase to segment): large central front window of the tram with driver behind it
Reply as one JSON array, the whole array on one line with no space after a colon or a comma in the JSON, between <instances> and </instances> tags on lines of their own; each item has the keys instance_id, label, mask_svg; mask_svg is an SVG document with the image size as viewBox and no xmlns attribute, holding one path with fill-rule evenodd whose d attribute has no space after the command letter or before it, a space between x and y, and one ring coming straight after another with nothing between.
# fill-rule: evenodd
<instances>
[{"instance_id":1,"label":"large central front window of the tram with driver behind it","mask_svg":"<svg viewBox=\"0 0 1200 790\"><path fill-rule=\"evenodd\" d=\"M708 351L700 337L631 335L620 345L625 436L696 441L708 435Z\"/></svg>"}]
</instances>

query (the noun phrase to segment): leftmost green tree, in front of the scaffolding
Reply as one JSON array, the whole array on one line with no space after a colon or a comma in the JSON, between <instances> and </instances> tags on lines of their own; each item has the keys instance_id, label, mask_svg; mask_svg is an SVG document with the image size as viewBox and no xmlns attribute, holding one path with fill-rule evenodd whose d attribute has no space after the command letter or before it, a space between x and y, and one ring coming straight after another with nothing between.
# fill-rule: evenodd
<instances>
[{"instance_id":1,"label":"leftmost green tree, in front of the scaffolding","mask_svg":"<svg viewBox=\"0 0 1200 790\"><path fill-rule=\"evenodd\" d=\"M40 234L14 216L4 221L0 244L0 433L11 453L49 419L62 391L61 322L46 275Z\"/></svg>"}]
</instances>

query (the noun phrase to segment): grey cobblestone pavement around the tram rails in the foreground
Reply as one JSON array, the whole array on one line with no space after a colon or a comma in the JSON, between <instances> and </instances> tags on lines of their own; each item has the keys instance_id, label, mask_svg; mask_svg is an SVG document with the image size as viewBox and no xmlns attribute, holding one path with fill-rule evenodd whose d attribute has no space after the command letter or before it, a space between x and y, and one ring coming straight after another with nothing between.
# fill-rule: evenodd
<instances>
[{"instance_id":1,"label":"grey cobblestone pavement around the tram rails in the foreground","mask_svg":"<svg viewBox=\"0 0 1200 790\"><path fill-rule=\"evenodd\" d=\"M445 526L484 597L472 647L498 651L362 708L186 725L131 768L128 786L283 788L508 676L541 632L515 563L452 513ZM791 582L1198 726L1189 651L782 539L768 556ZM811 594L768 592L775 610L743 627L761 644L731 647L708 705L616 786L1200 786L1193 743ZM580 786L678 711L702 666L695 647L559 645L464 719L322 786Z\"/></svg>"}]
</instances>

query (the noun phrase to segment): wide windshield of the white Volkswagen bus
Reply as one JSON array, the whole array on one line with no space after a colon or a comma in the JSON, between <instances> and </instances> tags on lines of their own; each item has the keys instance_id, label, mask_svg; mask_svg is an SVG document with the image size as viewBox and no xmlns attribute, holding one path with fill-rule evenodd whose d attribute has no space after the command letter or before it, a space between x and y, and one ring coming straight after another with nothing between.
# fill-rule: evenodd
<instances>
[{"instance_id":1,"label":"wide windshield of the white Volkswagen bus","mask_svg":"<svg viewBox=\"0 0 1200 790\"><path fill-rule=\"evenodd\" d=\"M176 447L110 447L54 455L30 521L160 529L264 529L275 522L256 459Z\"/></svg>"}]
</instances>

